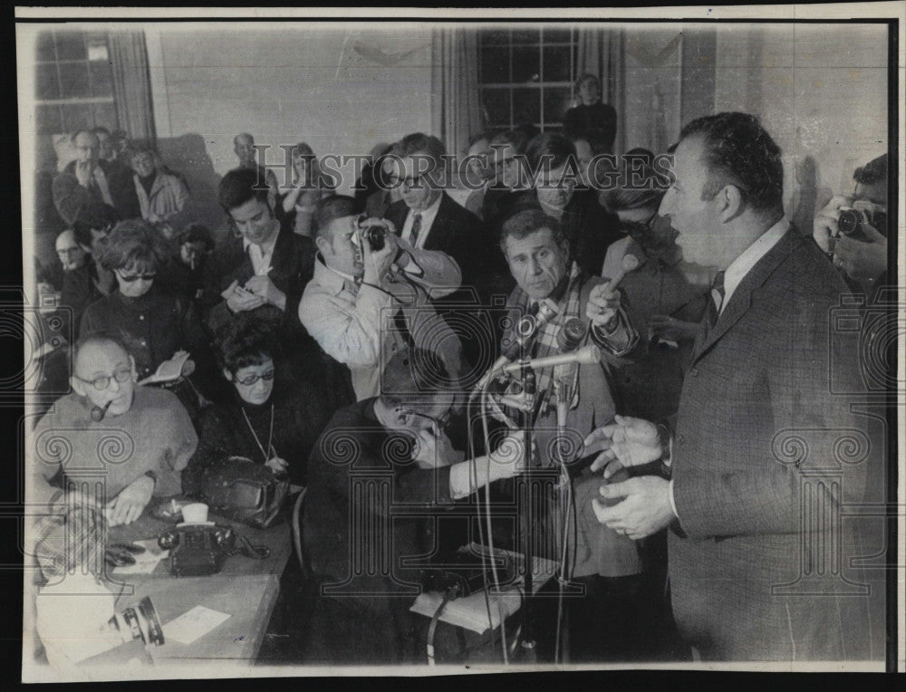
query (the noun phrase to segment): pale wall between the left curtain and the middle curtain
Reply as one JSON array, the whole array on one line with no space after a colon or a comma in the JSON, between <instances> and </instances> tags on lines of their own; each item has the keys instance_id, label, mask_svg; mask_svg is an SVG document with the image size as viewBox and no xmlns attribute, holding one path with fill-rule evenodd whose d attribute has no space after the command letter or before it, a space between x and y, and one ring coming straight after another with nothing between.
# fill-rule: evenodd
<instances>
[{"instance_id":1,"label":"pale wall between the left curtain and the middle curtain","mask_svg":"<svg viewBox=\"0 0 906 692\"><path fill-rule=\"evenodd\" d=\"M238 132L256 144L306 141L323 156L367 154L431 127L429 26L262 26L146 28L160 153L215 227L226 218L217 182L236 166ZM268 154L284 159L281 149Z\"/></svg>"}]
</instances>

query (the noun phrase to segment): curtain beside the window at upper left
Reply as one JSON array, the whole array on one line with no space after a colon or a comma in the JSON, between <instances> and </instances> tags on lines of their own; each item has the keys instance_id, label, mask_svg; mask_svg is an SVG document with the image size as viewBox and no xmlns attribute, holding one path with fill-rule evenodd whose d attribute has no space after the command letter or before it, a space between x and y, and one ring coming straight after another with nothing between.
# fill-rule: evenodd
<instances>
[{"instance_id":1,"label":"curtain beside the window at upper left","mask_svg":"<svg viewBox=\"0 0 906 692\"><path fill-rule=\"evenodd\" d=\"M140 31L111 32L113 99L120 128L130 139L154 147L154 112L151 108L151 81L145 34Z\"/></svg>"}]
</instances>

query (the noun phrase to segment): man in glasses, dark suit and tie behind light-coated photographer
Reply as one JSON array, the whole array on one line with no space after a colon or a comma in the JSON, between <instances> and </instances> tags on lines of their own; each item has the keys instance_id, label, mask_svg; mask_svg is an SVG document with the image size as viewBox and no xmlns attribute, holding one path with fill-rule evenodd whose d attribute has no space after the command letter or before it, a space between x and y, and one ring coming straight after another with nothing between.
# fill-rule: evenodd
<instances>
[{"instance_id":1,"label":"man in glasses, dark suit and tie behind light-coated photographer","mask_svg":"<svg viewBox=\"0 0 906 692\"><path fill-rule=\"evenodd\" d=\"M495 240L485 233L480 219L444 192L446 153L438 138L420 132L407 135L394 145L390 175L381 182L386 187L399 188L402 198L390 205L384 218L415 249L439 250L459 265L462 288L435 304L462 342L466 360L483 370L493 362L487 354L493 355L495 343L479 343L476 330L470 327L471 323L486 322L487 316L480 310L468 311L463 303L474 303L476 299L487 303L488 258L500 251Z\"/></svg>"}]
</instances>

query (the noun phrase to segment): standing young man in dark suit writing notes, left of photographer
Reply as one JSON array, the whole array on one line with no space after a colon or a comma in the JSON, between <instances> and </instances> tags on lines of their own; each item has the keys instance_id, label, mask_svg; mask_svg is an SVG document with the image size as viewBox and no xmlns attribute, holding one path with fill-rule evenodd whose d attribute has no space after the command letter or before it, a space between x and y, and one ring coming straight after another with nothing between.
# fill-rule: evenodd
<instances>
[{"instance_id":1,"label":"standing young man in dark suit writing notes, left of photographer","mask_svg":"<svg viewBox=\"0 0 906 692\"><path fill-rule=\"evenodd\" d=\"M258 172L229 171L220 181L220 205L238 231L207 261L200 303L211 332L238 312L270 324L289 371L323 389L331 410L352 401L349 373L340 370L299 322L299 301L314 272L312 239L281 226L274 195L258 187Z\"/></svg>"}]
</instances>

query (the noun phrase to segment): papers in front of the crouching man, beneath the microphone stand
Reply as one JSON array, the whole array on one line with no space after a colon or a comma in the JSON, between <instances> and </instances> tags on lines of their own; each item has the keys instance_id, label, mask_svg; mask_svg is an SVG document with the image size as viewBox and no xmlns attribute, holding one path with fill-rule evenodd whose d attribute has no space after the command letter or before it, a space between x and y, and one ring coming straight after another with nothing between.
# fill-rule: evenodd
<instances>
[{"instance_id":1,"label":"papers in front of the crouching man, beneath the microphone stand","mask_svg":"<svg viewBox=\"0 0 906 692\"><path fill-rule=\"evenodd\" d=\"M487 548L479 546L477 543L471 543L469 547L474 553L487 554ZM496 550L495 553L497 555L506 555L506 557L516 562L517 569L522 563L522 555L518 553L512 553L506 550ZM545 581L554 576L557 569L557 563L553 560L535 557L533 568L534 576L532 581L532 592L534 593L541 588ZM500 624L501 612L503 613L504 618L508 618L515 613L516 610L519 610L519 607L522 605L521 594L523 591L523 579L520 577L503 593L493 593L493 581L491 586L492 593L488 599L491 610L491 627L496 628L497 625ZM409 610L431 618L440 607L441 601L443 601L443 594L436 591L427 591L419 595ZM472 630L477 634L487 631L487 605L485 603L485 592L478 591L466 598L450 601L447 604L447 608L441 613L439 620L456 627Z\"/></svg>"}]
</instances>

